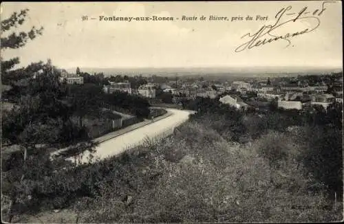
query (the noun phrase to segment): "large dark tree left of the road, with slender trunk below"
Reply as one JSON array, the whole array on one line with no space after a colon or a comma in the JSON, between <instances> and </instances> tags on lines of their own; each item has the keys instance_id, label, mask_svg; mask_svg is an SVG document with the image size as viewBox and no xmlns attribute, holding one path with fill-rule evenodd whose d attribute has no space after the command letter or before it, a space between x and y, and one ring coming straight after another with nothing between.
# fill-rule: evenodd
<instances>
[{"instance_id":1,"label":"large dark tree left of the road, with slender trunk below","mask_svg":"<svg viewBox=\"0 0 344 224\"><path fill-rule=\"evenodd\" d=\"M47 148L67 141L68 139L61 136L66 131L70 131L65 128L70 114L63 101L65 90L59 82L59 75L49 63L43 65L41 69L41 74L29 80L27 93L21 96L19 104L3 117L1 126L2 137L12 144L17 144L20 152L23 153L23 157L17 158L20 166L11 170L14 179L10 181L11 188L7 192L11 198L10 220L13 209L23 199L22 196L32 193L30 190L33 190L31 188L35 181L30 179L30 175L28 176L31 166L34 166L30 161L36 156L46 156L45 159L48 159ZM44 177L40 175L36 173L36 177ZM25 188L30 190L22 192L21 189Z\"/></svg>"}]
</instances>

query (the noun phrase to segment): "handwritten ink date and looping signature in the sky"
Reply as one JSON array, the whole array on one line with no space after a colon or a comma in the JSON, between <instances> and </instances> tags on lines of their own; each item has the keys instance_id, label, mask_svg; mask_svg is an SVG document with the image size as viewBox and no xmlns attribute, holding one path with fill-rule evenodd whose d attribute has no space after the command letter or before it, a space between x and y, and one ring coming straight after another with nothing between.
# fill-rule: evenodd
<instances>
[{"instance_id":1,"label":"handwritten ink date and looping signature in the sky","mask_svg":"<svg viewBox=\"0 0 344 224\"><path fill-rule=\"evenodd\" d=\"M245 49L252 49L253 47L260 47L263 45L266 45L268 43L272 43L279 40L284 40L288 42L288 47L291 44L290 38L301 36L303 34L307 34L310 32L313 32L316 30L317 27L319 27L321 21L319 19L319 16L323 14L323 12L326 10L325 4L326 3L334 3L335 1L324 1L321 9L316 9L313 12L308 11L308 7L305 6L302 10L300 10L298 13L293 13L290 10L292 10L292 6L289 5L286 8L282 8L277 12L275 19L277 21L273 25L263 25L257 32L254 34L251 34L250 32L247 34L244 34L244 36L241 36L241 38L248 37L250 38L249 41L246 43L243 43L239 45L235 49L235 52L242 52ZM293 16L292 19L288 19L286 21L283 21L284 18L287 18L288 16ZM286 34L272 34L273 32L277 32L278 28L281 28L285 26L286 24L294 23L296 21L314 21L315 25L313 27L306 28L304 30L299 30L295 32L288 32ZM283 22L282 22L283 21Z\"/></svg>"}]
</instances>

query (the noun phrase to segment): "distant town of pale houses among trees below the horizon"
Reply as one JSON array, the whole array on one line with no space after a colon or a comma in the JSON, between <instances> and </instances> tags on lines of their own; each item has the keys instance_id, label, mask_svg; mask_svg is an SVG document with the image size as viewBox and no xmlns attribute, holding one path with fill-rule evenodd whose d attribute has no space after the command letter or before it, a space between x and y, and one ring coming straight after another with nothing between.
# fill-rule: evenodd
<instances>
[{"instance_id":1,"label":"distant town of pale houses among trees below the horizon","mask_svg":"<svg viewBox=\"0 0 344 224\"><path fill-rule=\"evenodd\" d=\"M61 81L83 85L98 82L105 93L124 92L147 98L149 102L178 104L197 97L215 99L237 109L266 109L268 102L277 102L282 109L303 110L312 105L326 109L332 102L343 103L343 76L340 72L321 75L276 76L275 78L236 78L231 81L206 74L188 76L127 76L103 73L88 74L78 68L74 74L63 70ZM205 78L206 77L206 80ZM212 79L212 80L211 80Z\"/></svg>"}]
</instances>

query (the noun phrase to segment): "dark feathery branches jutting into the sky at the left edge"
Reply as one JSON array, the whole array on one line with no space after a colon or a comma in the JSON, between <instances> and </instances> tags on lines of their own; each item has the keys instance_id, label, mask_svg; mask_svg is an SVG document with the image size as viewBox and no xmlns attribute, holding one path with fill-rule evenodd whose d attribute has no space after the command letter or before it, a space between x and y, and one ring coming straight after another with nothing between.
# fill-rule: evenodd
<instances>
[{"instance_id":1,"label":"dark feathery branches jutting into the sky at the left edge","mask_svg":"<svg viewBox=\"0 0 344 224\"><path fill-rule=\"evenodd\" d=\"M28 16L28 9L21 10L21 12L14 12L10 18L3 19L1 21L1 54L6 49L18 49L25 46L29 40L33 40L36 36L41 35L43 27L37 29L32 27L29 32L19 32L17 29L20 25L25 22L26 16ZM12 31L11 31L12 30ZM6 33L12 32L5 36ZM3 84L11 84L13 80L17 80L17 77L13 77L13 74L18 74L15 70L12 70L15 65L19 64L19 57L11 58L10 60L3 60L1 57L1 80Z\"/></svg>"}]
</instances>

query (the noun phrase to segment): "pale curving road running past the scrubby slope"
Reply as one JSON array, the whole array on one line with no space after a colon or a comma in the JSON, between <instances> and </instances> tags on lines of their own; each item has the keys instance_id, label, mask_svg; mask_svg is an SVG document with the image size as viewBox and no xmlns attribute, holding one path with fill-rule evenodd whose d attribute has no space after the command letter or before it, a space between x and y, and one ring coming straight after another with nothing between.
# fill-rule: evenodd
<instances>
[{"instance_id":1,"label":"pale curving road running past the scrubby slope","mask_svg":"<svg viewBox=\"0 0 344 224\"><path fill-rule=\"evenodd\" d=\"M142 144L147 137L154 138L157 136L164 137L169 135L173 133L173 128L186 122L186 120L189 119L189 115L194 113L193 111L181 111L178 109L166 109L166 111L169 111L172 114L162 120L147 124L146 126L142 126L118 137L109 139L106 142L100 143L96 147L96 153L93 154L94 158L105 159L107 157L118 155L129 148ZM88 157L89 152L85 151L80 161L82 163L86 163L88 161ZM70 157L67 160L76 161L74 157Z\"/></svg>"}]
</instances>

